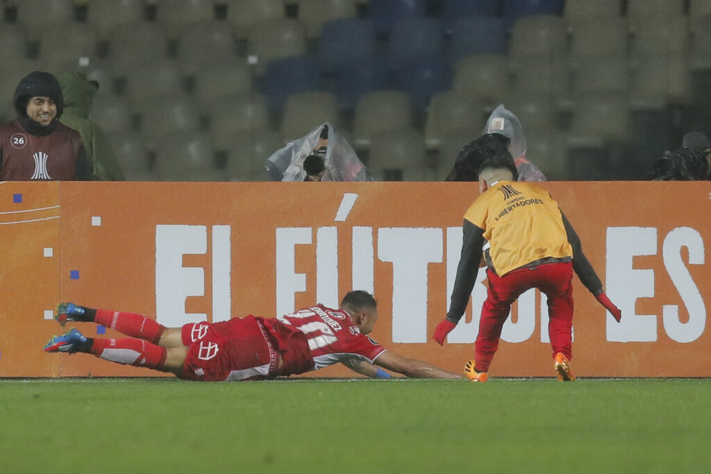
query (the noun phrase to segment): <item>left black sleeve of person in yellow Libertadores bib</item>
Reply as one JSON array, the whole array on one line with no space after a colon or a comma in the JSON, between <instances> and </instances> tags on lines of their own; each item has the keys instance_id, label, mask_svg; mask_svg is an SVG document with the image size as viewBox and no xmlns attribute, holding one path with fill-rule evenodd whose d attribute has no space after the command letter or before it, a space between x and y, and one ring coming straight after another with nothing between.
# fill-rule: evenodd
<instances>
[{"instance_id":1,"label":"left black sleeve of person in yellow Libertadores bib","mask_svg":"<svg viewBox=\"0 0 711 474\"><path fill-rule=\"evenodd\" d=\"M449 303L449 313L447 320L458 323L469 303L471 290L474 289L476 274L479 273L479 262L481 262L481 247L484 244L483 229L476 227L468 220L464 220L462 226L463 235L461 237L461 257L459 266L456 267L456 279L454 289L451 292L451 302Z\"/></svg>"}]
</instances>

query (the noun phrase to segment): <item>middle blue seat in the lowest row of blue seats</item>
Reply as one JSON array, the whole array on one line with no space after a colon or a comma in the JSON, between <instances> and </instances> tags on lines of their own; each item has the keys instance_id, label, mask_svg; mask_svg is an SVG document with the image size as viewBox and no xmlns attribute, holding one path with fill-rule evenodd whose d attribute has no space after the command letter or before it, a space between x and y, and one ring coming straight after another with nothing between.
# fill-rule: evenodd
<instances>
[{"instance_id":1,"label":"middle blue seat in the lowest row of blue seats","mask_svg":"<svg viewBox=\"0 0 711 474\"><path fill-rule=\"evenodd\" d=\"M336 71L338 106L353 109L366 92L387 89L388 71L385 58L375 55L343 65Z\"/></svg>"}]
</instances>

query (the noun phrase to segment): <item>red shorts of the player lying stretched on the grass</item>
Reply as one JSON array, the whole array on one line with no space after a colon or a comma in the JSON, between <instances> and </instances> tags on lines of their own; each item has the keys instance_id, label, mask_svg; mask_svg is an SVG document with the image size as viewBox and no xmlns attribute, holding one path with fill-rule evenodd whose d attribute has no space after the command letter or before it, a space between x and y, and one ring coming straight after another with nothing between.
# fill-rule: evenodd
<instances>
[{"instance_id":1,"label":"red shorts of the player lying stretched on the grass","mask_svg":"<svg viewBox=\"0 0 711 474\"><path fill-rule=\"evenodd\" d=\"M183 379L259 380L277 369L274 340L254 316L186 324L182 337L188 346Z\"/></svg>"}]
</instances>

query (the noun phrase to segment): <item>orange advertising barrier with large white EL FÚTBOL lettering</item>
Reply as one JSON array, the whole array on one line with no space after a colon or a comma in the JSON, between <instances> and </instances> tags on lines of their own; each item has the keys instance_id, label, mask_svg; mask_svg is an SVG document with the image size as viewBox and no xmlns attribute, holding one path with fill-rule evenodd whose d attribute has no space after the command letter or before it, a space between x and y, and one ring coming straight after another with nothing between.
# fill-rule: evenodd
<instances>
[{"instance_id":1,"label":"orange advertising barrier with large white EL F\u00daTBOL lettering","mask_svg":"<svg viewBox=\"0 0 711 474\"><path fill-rule=\"evenodd\" d=\"M574 279L577 375L711 377L711 185L542 185L623 313L616 323ZM476 195L476 183L1 183L0 377L159 375L44 353L60 332L51 321L59 301L179 326L338 306L354 288L378 298L372 337L385 348L462 372L474 357L483 272L444 347L432 333L447 312L462 215ZM545 301L524 293L489 375L552 377L550 352Z\"/></svg>"}]
</instances>

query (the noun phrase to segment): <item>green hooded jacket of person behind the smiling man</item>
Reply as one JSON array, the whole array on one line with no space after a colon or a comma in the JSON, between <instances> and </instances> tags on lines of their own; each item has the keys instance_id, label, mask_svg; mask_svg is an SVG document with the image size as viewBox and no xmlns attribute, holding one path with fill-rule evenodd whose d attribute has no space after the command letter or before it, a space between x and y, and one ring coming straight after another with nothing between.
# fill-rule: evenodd
<instances>
[{"instance_id":1,"label":"green hooded jacket of person behind the smiling man","mask_svg":"<svg viewBox=\"0 0 711 474\"><path fill-rule=\"evenodd\" d=\"M94 175L102 181L126 181L119 161L111 150L104 131L89 119L91 104L99 86L79 72L60 72L64 113L59 121L82 136L84 148L94 165Z\"/></svg>"}]
</instances>

